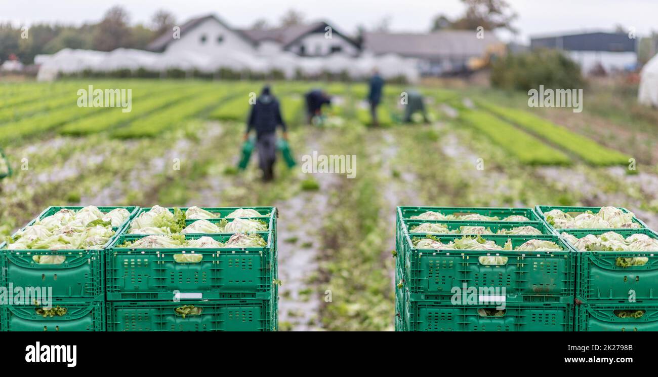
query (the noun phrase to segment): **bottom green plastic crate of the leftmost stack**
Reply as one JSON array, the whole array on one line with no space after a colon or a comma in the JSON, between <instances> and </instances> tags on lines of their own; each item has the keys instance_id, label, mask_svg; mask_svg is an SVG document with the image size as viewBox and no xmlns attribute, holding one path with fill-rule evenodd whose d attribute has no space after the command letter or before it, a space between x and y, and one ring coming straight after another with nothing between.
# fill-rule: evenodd
<instances>
[{"instance_id":1,"label":"bottom green plastic crate of the leftmost stack","mask_svg":"<svg viewBox=\"0 0 658 377\"><path fill-rule=\"evenodd\" d=\"M63 316L37 314L38 306L0 305L3 331L102 332L105 331L105 301L64 301L52 306L66 308Z\"/></svg>"}]
</instances>

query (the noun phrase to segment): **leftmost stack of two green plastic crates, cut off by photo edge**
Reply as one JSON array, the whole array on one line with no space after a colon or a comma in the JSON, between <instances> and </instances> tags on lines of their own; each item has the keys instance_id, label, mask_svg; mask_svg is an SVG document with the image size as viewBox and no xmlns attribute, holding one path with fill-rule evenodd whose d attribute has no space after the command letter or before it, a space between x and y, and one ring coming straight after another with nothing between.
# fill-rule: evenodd
<instances>
[{"instance_id":1,"label":"leftmost stack of two green plastic crates, cut off by photo edge","mask_svg":"<svg viewBox=\"0 0 658 377\"><path fill-rule=\"evenodd\" d=\"M50 216L66 208L80 210L82 206L51 206L26 224L33 225L37 219ZM1 305L0 323L2 331L105 331L105 255L107 247L119 237L139 208L98 207L107 213L116 208L126 208L128 219L116 227L115 234L98 250L7 250L6 243L0 244L0 286L7 287L52 287L53 303L66 308L64 316L43 317L36 314L36 306ZM22 228L24 229L24 227ZM14 233L15 235L15 233ZM34 255L63 255L66 260L59 265L32 263ZM51 284L51 285L46 285Z\"/></svg>"}]
</instances>

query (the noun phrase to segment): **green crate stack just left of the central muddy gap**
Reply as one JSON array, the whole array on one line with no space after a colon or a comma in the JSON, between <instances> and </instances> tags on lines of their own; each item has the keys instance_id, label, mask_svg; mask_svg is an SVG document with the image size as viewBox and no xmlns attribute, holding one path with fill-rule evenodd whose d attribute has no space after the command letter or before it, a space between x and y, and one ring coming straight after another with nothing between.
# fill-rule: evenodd
<instances>
[{"instance_id":1,"label":"green crate stack just left of the central muddy gap","mask_svg":"<svg viewBox=\"0 0 658 377\"><path fill-rule=\"evenodd\" d=\"M257 255L256 251L247 250L247 248L236 248L236 250L197 249L195 253L200 252L203 255L201 263L205 260L205 264L199 266L195 263L188 263L183 267L184 264L174 262L173 254L179 254L176 251L182 253L184 250L190 252L186 249L168 249L170 252L155 251L155 254L142 254L145 250L141 250L137 254L138 258L134 258L130 248L116 247L124 239L143 237L141 235L128 235L130 224L126 225L121 236L111 246L106 262L108 331L277 331L278 285L274 283L274 280L278 279L278 252L276 246L276 217L278 213L274 207L243 208L255 209L261 214L268 213L267 217L253 217L268 221L268 231L257 232L268 241L265 254L261 250L259 256L251 259L251 262L247 262L247 264L244 264L243 259L245 257L251 258L249 253ZM186 209L181 208L182 211ZM238 208L203 209L219 214L217 219L211 221L220 221L221 218ZM148 208L143 208L141 211L146 210ZM186 223L189 225L193 221L196 220L188 219ZM195 234L186 237L209 236L226 241L232 234ZM241 257L232 257L235 252L238 252L236 255L241 255ZM144 257L139 258L140 255ZM240 261L238 261L238 258L240 258ZM121 262L121 260L124 260L124 262ZM259 268L249 268L249 266L253 267L251 263L255 260L261 263L261 266ZM209 268L207 262L211 262ZM228 280L226 276L221 274L221 272L226 271L226 267L222 266L228 265L231 265L232 270L257 271L259 277L262 277L261 282L255 285L253 283L245 285L234 281L234 286L230 290L223 290L222 287L218 287L218 285L223 284L213 283L212 281ZM244 266L244 268L240 268L240 266ZM179 270L181 267L183 267L182 270ZM203 271L201 271L202 267ZM124 270L123 275L121 268ZM166 275L167 272L169 275ZM132 281L136 285L134 285L134 289L126 290L125 283L121 285L116 281L120 281L128 273L133 276ZM248 272L241 272L240 274L248 274ZM143 280L137 278L137 275L142 275L142 277L149 275L149 277ZM264 281L265 277L266 282ZM241 276L241 278L244 279L245 276ZM237 280L239 279L240 276ZM253 279L253 273L251 279ZM211 283L207 284L209 281ZM121 289L121 286L124 289ZM173 300L174 289L180 291L182 297L178 303ZM180 314L174 312L176 308L183 305L193 305L195 308L200 308L201 313L183 318Z\"/></svg>"}]
</instances>

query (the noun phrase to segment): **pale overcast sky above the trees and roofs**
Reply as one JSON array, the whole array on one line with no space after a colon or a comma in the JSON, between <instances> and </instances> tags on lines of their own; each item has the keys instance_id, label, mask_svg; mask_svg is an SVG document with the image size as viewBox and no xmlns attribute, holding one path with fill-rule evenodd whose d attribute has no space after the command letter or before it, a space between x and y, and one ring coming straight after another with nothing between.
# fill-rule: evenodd
<instances>
[{"instance_id":1,"label":"pale overcast sky above the trees and roofs","mask_svg":"<svg viewBox=\"0 0 658 377\"><path fill-rule=\"evenodd\" d=\"M553 32L611 30L616 24L634 27L638 36L658 31L657 0L508 0L519 14L519 42L528 36ZM278 23L288 9L307 20L328 20L336 28L353 33L359 24L367 28L390 18L392 31L424 32L438 13L455 17L463 13L459 0L0 0L0 21L15 24L97 22L112 5L128 9L132 23L148 23L157 9L166 9L185 22L201 14L216 13L230 26L246 27L257 18ZM501 33L509 40L511 36Z\"/></svg>"}]
</instances>

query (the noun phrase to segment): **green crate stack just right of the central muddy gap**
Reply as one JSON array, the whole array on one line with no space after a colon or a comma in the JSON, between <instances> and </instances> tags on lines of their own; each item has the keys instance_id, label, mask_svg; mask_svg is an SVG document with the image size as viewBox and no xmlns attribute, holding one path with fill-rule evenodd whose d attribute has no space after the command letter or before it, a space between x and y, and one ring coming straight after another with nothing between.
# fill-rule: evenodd
<instances>
[{"instance_id":1,"label":"green crate stack just right of the central muddy gap","mask_svg":"<svg viewBox=\"0 0 658 377\"><path fill-rule=\"evenodd\" d=\"M529 221L417 220L424 212L444 215L480 214L503 219L520 215ZM530 239L553 241L563 251L518 252L507 250L420 250L413 245L414 225L443 223L449 229L483 226L493 233L530 225L542 235L483 235L497 245L511 239L519 246ZM463 234L435 234L442 243ZM396 230L397 331L572 331L575 257L532 208L398 207ZM505 256L499 265L481 264L481 256ZM453 302L453 289L488 287ZM505 287L504 295L501 290ZM496 310L504 300L504 310Z\"/></svg>"}]
</instances>

